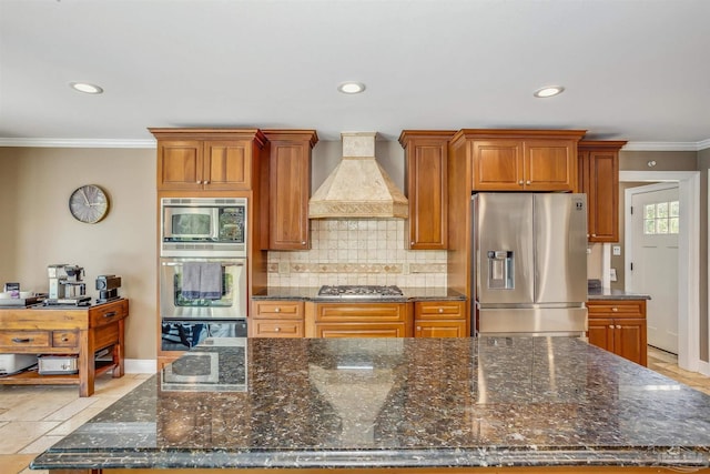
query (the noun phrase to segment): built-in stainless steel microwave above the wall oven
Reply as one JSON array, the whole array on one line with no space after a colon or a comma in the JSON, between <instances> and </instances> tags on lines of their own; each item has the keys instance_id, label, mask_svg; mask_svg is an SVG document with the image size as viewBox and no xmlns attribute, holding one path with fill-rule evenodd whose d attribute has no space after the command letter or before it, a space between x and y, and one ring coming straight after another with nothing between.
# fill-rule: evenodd
<instances>
[{"instance_id":1,"label":"built-in stainless steel microwave above the wall oven","mask_svg":"<svg viewBox=\"0 0 710 474\"><path fill-rule=\"evenodd\" d=\"M246 198L163 198L161 216L161 256L246 256Z\"/></svg>"}]
</instances>

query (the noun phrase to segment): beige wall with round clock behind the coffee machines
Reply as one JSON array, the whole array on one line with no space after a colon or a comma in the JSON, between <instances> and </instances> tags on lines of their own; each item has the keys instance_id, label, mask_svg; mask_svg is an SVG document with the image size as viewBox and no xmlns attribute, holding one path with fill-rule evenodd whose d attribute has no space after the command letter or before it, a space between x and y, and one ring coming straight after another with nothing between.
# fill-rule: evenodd
<instances>
[{"instance_id":1,"label":"beige wall with round clock behind the coffee machines","mask_svg":"<svg viewBox=\"0 0 710 474\"><path fill-rule=\"evenodd\" d=\"M97 297L98 275L120 275L125 356L155 359L155 150L0 148L0 283L45 292L48 264L77 264ZM88 183L111 200L98 224L69 213L69 195Z\"/></svg>"}]
</instances>

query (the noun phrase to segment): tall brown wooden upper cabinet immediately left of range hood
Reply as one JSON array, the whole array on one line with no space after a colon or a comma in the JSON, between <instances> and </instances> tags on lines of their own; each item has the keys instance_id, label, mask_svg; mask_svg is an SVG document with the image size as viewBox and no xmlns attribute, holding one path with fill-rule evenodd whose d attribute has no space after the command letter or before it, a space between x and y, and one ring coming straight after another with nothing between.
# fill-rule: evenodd
<instances>
[{"instance_id":1,"label":"tall brown wooden upper cabinet immediately left of range hood","mask_svg":"<svg viewBox=\"0 0 710 474\"><path fill-rule=\"evenodd\" d=\"M315 130L264 130L270 142L268 249L311 248L308 199Z\"/></svg>"}]
</instances>

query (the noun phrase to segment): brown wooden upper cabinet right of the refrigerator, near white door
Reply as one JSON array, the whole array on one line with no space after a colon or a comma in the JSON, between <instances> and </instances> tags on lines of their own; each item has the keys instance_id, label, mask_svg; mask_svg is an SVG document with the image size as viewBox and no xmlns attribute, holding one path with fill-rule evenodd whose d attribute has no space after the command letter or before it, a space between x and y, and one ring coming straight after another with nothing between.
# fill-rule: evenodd
<instances>
[{"instance_id":1,"label":"brown wooden upper cabinet right of the refrigerator, near white door","mask_svg":"<svg viewBox=\"0 0 710 474\"><path fill-rule=\"evenodd\" d=\"M578 191L587 194L587 240L619 241L619 150L626 141L580 141Z\"/></svg>"}]
</instances>

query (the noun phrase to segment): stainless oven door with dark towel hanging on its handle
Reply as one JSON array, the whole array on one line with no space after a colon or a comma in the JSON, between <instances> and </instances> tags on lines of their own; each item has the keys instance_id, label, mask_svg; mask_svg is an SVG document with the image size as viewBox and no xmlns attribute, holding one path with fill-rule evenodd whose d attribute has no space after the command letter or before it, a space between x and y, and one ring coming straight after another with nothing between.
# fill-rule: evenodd
<instances>
[{"instance_id":1,"label":"stainless oven door with dark towel hanging on its handle","mask_svg":"<svg viewBox=\"0 0 710 474\"><path fill-rule=\"evenodd\" d=\"M160 259L160 312L163 320L246 317L246 260Z\"/></svg>"}]
</instances>

